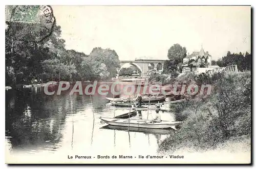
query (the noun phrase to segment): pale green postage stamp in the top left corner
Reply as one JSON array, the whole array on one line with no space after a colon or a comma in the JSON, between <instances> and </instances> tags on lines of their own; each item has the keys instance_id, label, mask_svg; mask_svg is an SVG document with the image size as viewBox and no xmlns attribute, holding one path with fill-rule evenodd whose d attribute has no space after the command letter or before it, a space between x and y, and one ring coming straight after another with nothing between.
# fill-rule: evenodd
<instances>
[{"instance_id":1,"label":"pale green postage stamp in the top left corner","mask_svg":"<svg viewBox=\"0 0 256 169\"><path fill-rule=\"evenodd\" d=\"M6 6L6 20L39 23L39 5Z\"/></svg>"}]
</instances>

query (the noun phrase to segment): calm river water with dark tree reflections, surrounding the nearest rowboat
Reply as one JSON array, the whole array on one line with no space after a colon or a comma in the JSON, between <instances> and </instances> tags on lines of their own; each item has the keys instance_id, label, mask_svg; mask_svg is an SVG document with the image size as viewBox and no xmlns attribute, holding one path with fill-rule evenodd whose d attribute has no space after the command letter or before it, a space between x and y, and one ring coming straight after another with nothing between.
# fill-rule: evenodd
<instances>
[{"instance_id":1,"label":"calm river water with dark tree reflections, surrounding the nearest rowboat","mask_svg":"<svg viewBox=\"0 0 256 169\"><path fill-rule=\"evenodd\" d=\"M129 107L112 106L105 99L108 95L49 96L43 92L41 87L6 91L6 153L34 157L63 153L67 156L67 152L102 156L156 154L161 140L171 134L168 130L127 131L106 126L99 117L130 111ZM162 120L174 120L172 111L159 113ZM154 110L146 110L132 118L152 119L155 114Z\"/></svg>"}]
</instances>

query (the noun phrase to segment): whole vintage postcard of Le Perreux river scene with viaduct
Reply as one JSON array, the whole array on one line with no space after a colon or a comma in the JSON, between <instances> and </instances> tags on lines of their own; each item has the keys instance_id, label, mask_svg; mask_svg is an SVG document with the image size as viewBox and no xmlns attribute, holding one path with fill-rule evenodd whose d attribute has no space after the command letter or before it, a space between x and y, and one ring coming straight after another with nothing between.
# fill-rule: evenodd
<instances>
[{"instance_id":1,"label":"whole vintage postcard of Le Perreux river scene with viaduct","mask_svg":"<svg viewBox=\"0 0 256 169\"><path fill-rule=\"evenodd\" d=\"M6 6L8 164L250 164L250 6Z\"/></svg>"}]
</instances>

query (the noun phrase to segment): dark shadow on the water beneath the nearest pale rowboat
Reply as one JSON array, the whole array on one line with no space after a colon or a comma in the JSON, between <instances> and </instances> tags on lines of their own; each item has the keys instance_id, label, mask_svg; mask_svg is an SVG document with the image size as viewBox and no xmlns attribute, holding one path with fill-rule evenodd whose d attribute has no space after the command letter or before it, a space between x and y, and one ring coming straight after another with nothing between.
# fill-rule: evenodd
<instances>
[{"instance_id":1,"label":"dark shadow on the water beneath the nearest pale rowboat","mask_svg":"<svg viewBox=\"0 0 256 169\"><path fill-rule=\"evenodd\" d=\"M101 129L127 131L128 127L106 125L101 127ZM145 134L170 134L173 132L172 130L168 130L168 129L138 128L138 127L129 127L129 131L143 132Z\"/></svg>"}]
</instances>

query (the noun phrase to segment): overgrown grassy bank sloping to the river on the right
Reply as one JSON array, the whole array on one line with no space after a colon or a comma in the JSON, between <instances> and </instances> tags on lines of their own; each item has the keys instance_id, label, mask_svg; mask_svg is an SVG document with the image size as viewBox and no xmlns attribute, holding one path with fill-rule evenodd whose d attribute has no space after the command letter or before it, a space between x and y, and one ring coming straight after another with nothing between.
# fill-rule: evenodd
<instances>
[{"instance_id":1,"label":"overgrown grassy bank sloping to the river on the right","mask_svg":"<svg viewBox=\"0 0 256 169\"><path fill-rule=\"evenodd\" d=\"M198 86L211 85L211 93L186 96L186 101L176 106L176 120L184 123L177 133L161 142L158 151L213 150L221 145L248 143L251 136L251 73L191 74L189 78L189 83L196 82Z\"/></svg>"}]
</instances>

